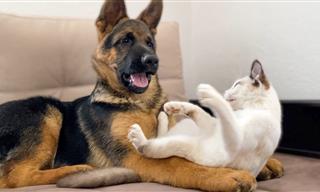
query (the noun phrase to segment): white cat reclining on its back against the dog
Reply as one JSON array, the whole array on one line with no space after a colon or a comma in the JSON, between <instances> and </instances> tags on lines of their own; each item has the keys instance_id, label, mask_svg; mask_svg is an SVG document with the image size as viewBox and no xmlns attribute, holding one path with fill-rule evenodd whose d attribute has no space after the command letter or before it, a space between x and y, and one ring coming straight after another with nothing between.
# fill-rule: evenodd
<instances>
[{"instance_id":1,"label":"white cat reclining on its back against the dog","mask_svg":"<svg viewBox=\"0 0 320 192\"><path fill-rule=\"evenodd\" d=\"M248 170L257 176L281 135L280 102L261 64L254 61L250 77L237 80L224 97L207 84L200 84L197 94L216 118L191 103L168 102L164 105L168 115L190 118L168 129L168 116L161 112L154 139L147 139L138 124L132 125L128 138L134 147L151 158L179 156L205 166Z\"/></svg>"}]
</instances>

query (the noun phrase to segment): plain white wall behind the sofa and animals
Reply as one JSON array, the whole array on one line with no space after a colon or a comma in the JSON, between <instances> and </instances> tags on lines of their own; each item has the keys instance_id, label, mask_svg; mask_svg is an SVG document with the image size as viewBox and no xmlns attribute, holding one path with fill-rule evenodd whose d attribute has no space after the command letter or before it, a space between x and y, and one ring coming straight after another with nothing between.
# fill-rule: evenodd
<instances>
[{"instance_id":1,"label":"plain white wall behind the sofa and animals","mask_svg":"<svg viewBox=\"0 0 320 192\"><path fill-rule=\"evenodd\" d=\"M130 16L148 1L127 0ZM102 1L0 1L0 11L19 15L92 18ZM198 83L220 91L249 71L265 67L282 99L320 99L320 2L166 0L164 21L181 27L185 87Z\"/></svg>"}]
</instances>

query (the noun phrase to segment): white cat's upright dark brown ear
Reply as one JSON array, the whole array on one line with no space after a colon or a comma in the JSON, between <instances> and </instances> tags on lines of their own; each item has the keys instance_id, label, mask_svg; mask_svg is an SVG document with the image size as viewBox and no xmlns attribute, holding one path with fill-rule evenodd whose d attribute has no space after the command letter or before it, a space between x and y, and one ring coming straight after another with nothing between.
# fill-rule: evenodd
<instances>
[{"instance_id":1,"label":"white cat's upright dark brown ear","mask_svg":"<svg viewBox=\"0 0 320 192\"><path fill-rule=\"evenodd\" d=\"M253 85L259 86L259 82L262 83L266 89L269 89L270 83L264 74L262 64L258 60L254 60L251 66L250 78L254 80Z\"/></svg>"}]
</instances>

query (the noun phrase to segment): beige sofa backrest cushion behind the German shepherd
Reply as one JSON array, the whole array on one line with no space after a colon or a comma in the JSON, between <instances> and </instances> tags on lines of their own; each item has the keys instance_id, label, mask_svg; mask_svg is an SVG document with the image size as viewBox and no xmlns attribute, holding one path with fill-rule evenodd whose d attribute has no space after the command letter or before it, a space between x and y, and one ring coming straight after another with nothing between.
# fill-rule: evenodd
<instances>
[{"instance_id":1,"label":"beige sofa backrest cushion behind the German shepherd","mask_svg":"<svg viewBox=\"0 0 320 192\"><path fill-rule=\"evenodd\" d=\"M170 99L184 99L178 25L161 23L159 77ZM0 14L0 103L35 95L62 100L91 93L94 21Z\"/></svg>"}]
</instances>

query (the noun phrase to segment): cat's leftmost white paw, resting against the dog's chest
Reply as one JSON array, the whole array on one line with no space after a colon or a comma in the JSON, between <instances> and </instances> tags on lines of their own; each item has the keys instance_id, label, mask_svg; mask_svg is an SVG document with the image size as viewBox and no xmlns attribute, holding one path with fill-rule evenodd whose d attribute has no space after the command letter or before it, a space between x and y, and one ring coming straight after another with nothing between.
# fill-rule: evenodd
<instances>
[{"instance_id":1,"label":"cat's leftmost white paw, resting against the dog's chest","mask_svg":"<svg viewBox=\"0 0 320 192\"><path fill-rule=\"evenodd\" d=\"M148 142L148 139L145 137L140 125L138 124L131 125L128 133L128 139L133 147L140 153L143 152L143 147Z\"/></svg>"}]
</instances>

